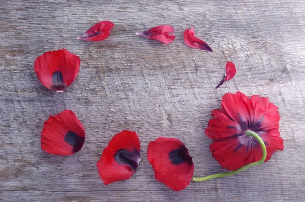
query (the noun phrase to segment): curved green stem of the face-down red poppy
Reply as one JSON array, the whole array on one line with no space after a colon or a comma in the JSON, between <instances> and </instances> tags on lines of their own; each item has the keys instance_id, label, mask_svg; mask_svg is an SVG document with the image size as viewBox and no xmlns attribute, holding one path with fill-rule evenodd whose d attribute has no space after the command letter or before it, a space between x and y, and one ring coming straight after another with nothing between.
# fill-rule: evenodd
<instances>
[{"instance_id":1,"label":"curved green stem of the face-down red poppy","mask_svg":"<svg viewBox=\"0 0 305 202\"><path fill-rule=\"evenodd\" d=\"M206 180L210 180L210 179L214 179L214 178L227 177L227 176L231 176L231 175L235 175L237 173L240 173L241 171L245 171L246 169L249 169L250 167L254 167L254 166L262 164L266 160L266 157L267 157L267 150L266 150L266 145L265 145L264 141L261 139L261 137L259 137L258 134L256 134L255 132L252 132L251 130L247 130L246 135L248 137L251 137L251 136L254 137L259 142L259 144L261 145L262 151L263 151L263 156L259 161L254 162L254 163L250 163L248 165L240 167L240 169L237 169L236 171L232 171L232 172L228 172L228 173L217 173L217 174L205 176L205 177L202 177L202 178L195 178L194 177L192 179L192 181L201 182L201 181L206 181Z\"/></svg>"}]
</instances>

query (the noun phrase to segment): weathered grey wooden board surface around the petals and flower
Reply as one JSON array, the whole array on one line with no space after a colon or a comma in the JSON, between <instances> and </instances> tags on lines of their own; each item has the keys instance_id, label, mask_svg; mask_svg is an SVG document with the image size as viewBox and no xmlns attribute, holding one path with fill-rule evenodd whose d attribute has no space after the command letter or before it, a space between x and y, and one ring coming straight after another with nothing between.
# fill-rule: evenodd
<instances>
[{"instance_id":1,"label":"weathered grey wooden board surface around the petals and flower","mask_svg":"<svg viewBox=\"0 0 305 202\"><path fill-rule=\"evenodd\" d=\"M1 1L0 200L304 201L304 1L131 2ZM115 24L108 39L76 39L104 20ZM170 45L135 35L162 24L175 28ZM192 26L215 53L184 43L182 33ZM81 58L81 69L66 91L55 93L41 85L33 64L62 48ZM237 74L214 90L227 61ZM191 182L181 192L157 182L146 151L159 136L185 143L195 176L224 172L204 129L222 95L236 91L268 96L279 107L284 151L239 175ZM43 122L64 109L85 126L85 147L73 156L49 155L40 148ZM138 133L142 161L129 180L105 186L96 162L123 129Z\"/></svg>"}]
</instances>

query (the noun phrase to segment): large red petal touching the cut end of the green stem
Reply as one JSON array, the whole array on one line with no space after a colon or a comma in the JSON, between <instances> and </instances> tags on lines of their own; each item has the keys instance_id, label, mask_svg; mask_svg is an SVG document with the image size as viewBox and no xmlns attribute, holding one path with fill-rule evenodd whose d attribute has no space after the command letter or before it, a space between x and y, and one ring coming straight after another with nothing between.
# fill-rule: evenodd
<instances>
[{"instance_id":1,"label":"large red petal touching the cut end of the green stem","mask_svg":"<svg viewBox=\"0 0 305 202\"><path fill-rule=\"evenodd\" d=\"M175 191L185 189L192 179L194 164L188 149L178 139L159 137L148 145L147 158L155 179Z\"/></svg>"}]
</instances>

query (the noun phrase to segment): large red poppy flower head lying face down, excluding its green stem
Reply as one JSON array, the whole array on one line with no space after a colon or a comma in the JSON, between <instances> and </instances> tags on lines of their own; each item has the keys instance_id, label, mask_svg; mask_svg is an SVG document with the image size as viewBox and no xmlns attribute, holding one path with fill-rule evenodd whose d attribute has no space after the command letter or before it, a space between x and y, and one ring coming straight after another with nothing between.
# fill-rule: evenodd
<instances>
[{"instance_id":1,"label":"large red poppy flower head lying face down, excluding its green stem","mask_svg":"<svg viewBox=\"0 0 305 202\"><path fill-rule=\"evenodd\" d=\"M221 109L212 112L205 134L214 142L210 150L215 160L227 170L261 159L262 150L258 141L247 137L246 131L257 133L267 148L267 162L276 150L283 150L280 138L280 115L277 106L267 97L253 95L248 98L241 92L226 93L222 97Z\"/></svg>"}]
</instances>

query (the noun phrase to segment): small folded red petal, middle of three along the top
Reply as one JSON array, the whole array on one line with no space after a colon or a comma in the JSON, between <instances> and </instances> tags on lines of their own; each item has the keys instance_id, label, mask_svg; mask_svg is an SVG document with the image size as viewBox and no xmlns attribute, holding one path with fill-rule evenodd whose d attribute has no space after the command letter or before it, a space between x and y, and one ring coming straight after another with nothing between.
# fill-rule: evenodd
<instances>
[{"instance_id":1,"label":"small folded red petal, middle of three along the top","mask_svg":"<svg viewBox=\"0 0 305 202\"><path fill-rule=\"evenodd\" d=\"M174 32L173 27L169 25L161 25L158 27L148 29L147 31L137 32L136 35L145 37L147 39L158 40L165 44L169 44L173 42L176 38L175 35L172 35L173 32Z\"/></svg>"}]
</instances>

